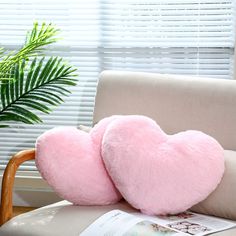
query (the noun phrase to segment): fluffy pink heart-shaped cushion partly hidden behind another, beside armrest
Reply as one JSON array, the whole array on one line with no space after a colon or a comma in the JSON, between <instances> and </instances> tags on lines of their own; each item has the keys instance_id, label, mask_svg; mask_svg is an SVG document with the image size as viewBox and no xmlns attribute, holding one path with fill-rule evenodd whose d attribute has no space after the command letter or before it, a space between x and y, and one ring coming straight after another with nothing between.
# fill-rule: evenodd
<instances>
[{"instance_id":1,"label":"fluffy pink heart-shaped cushion partly hidden behind another, beside armrest","mask_svg":"<svg viewBox=\"0 0 236 236\"><path fill-rule=\"evenodd\" d=\"M37 168L63 199L80 205L105 205L120 200L100 155L103 133L114 119L115 116L103 119L89 134L60 127L37 139Z\"/></svg>"}]
</instances>

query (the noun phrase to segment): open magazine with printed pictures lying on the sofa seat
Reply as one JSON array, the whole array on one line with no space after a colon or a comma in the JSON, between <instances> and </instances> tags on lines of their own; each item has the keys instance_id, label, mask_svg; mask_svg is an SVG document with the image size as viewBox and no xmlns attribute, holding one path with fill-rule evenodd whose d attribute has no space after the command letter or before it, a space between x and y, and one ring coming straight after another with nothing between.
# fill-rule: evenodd
<instances>
[{"instance_id":1,"label":"open magazine with printed pictures lying on the sofa seat","mask_svg":"<svg viewBox=\"0 0 236 236\"><path fill-rule=\"evenodd\" d=\"M190 211L157 217L113 210L99 217L80 236L202 236L235 226L232 221Z\"/></svg>"}]
</instances>

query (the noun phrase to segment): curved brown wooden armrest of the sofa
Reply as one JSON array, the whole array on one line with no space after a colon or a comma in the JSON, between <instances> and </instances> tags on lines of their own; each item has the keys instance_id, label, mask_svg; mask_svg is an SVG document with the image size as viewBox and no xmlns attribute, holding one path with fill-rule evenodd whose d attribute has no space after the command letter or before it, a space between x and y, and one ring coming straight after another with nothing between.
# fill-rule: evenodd
<instances>
[{"instance_id":1,"label":"curved brown wooden armrest of the sofa","mask_svg":"<svg viewBox=\"0 0 236 236\"><path fill-rule=\"evenodd\" d=\"M23 162L33 159L35 159L35 149L29 149L15 154L7 164L2 178L0 226L13 216L12 191L16 171Z\"/></svg>"}]
</instances>

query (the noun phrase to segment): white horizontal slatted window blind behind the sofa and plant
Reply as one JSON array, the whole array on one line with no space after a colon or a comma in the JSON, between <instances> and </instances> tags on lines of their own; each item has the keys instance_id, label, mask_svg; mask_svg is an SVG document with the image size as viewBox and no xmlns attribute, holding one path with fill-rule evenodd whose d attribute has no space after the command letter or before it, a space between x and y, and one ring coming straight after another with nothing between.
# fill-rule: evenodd
<instances>
[{"instance_id":1,"label":"white horizontal slatted window blind behind the sofa and plant","mask_svg":"<svg viewBox=\"0 0 236 236\"><path fill-rule=\"evenodd\" d=\"M0 46L19 48L33 21L55 23L63 41L50 48L78 68L72 95L44 123L0 129L0 166L54 126L92 125L104 69L233 78L234 0L1 0ZM35 170L28 162L22 170Z\"/></svg>"}]
</instances>

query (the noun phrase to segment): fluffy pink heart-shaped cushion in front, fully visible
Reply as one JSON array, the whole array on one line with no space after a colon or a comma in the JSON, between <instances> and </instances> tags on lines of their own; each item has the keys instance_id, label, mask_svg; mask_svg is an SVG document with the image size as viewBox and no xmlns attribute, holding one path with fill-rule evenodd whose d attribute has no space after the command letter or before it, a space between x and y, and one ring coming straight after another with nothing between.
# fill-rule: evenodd
<instances>
[{"instance_id":1,"label":"fluffy pink heart-shaped cushion in front, fully visible","mask_svg":"<svg viewBox=\"0 0 236 236\"><path fill-rule=\"evenodd\" d=\"M150 118L124 116L103 137L102 156L123 197L146 214L176 214L206 198L220 182L220 144L199 131L165 134Z\"/></svg>"}]
</instances>

